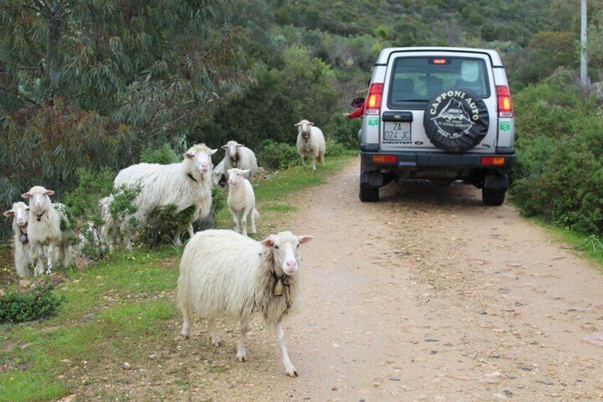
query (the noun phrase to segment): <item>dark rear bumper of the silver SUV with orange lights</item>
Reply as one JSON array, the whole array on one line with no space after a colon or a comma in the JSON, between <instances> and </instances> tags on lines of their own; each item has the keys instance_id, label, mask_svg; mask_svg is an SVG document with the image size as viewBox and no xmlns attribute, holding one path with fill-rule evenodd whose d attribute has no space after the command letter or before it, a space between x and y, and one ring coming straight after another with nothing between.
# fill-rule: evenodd
<instances>
[{"instance_id":1,"label":"dark rear bumper of the silver SUV with orange lights","mask_svg":"<svg viewBox=\"0 0 603 402\"><path fill-rule=\"evenodd\" d=\"M429 169L486 169L506 174L515 161L515 152L497 154L450 154L440 152L360 152L362 169L374 171L381 169L420 170ZM373 156L393 155L395 163L373 162ZM501 165L483 164L483 157L504 157Z\"/></svg>"}]
</instances>

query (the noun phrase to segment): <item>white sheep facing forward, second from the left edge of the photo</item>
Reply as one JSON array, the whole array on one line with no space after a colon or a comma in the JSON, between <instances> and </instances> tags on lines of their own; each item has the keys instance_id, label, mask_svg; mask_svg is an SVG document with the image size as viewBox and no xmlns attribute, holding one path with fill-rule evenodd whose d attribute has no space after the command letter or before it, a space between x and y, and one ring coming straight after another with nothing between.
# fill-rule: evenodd
<instances>
[{"instance_id":1,"label":"white sheep facing forward, second from the left edge of the photo","mask_svg":"<svg viewBox=\"0 0 603 402\"><path fill-rule=\"evenodd\" d=\"M55 194L53 190L47 190L43 186L33 186L21 195L24 199L29 199L27 238L38 258L33 275L44 273L44 258L47 263L46 273L52 272L55 252L58 252L58 259L63 260L63 265L69 265L71 255L69 232L61 229L61 223L68 226L65 206L51 203L50 196L53 194Z\"/></svg>"}]
</instances>

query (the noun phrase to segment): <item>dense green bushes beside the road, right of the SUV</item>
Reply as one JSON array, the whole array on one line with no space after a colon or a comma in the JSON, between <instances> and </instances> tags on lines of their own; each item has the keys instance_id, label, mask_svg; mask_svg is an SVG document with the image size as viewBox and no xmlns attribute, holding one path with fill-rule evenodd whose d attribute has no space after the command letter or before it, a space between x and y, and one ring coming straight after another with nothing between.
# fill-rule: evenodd
<instances>
[{"instance_id":1,"label":"dense green bushes beside the road, right of the SUV","mask_svg":"<svg viewBox=\"0 0 603 402\"><path fill-rule=\"evenodd\" d=\"M516 97L518 161L513 201L578 233L603 233L603 120L575 77L559 72Z\"/></svg>"}]
</instances>

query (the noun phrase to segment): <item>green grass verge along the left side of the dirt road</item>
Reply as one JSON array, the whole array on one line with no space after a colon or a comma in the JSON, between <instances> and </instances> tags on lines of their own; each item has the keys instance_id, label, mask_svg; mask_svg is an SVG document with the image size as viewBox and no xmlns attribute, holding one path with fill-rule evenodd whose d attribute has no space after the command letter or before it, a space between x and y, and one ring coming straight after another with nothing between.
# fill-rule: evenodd
<instances>
[{"instance_id":1,"label":"green grass verge along the left side of the dirt road","mask_svg":"<svg viewBox=\"0 0 603 402\"><path fill-rule=\"evenodd\" d=\"M287 197L326 183L350 159L350 155L327 158L326 166L316 172L295 166L255 183L262 214L255 238L277 230L294 231L286 227L287 216L296 211ZM217 221L220 228L232 228L228 209L218 213ZM157 363L154 353L174 353L178 348L180 312L174 291L182 250L173 246L118 250L81 270L59 269L63 282L55 292L66 300L56 317L0 325L0 401L53 401L71 393L78 393L78 400L131 399L124 362L152 368ZM208 363L205 372L220 375L224 369ZM145 398L173 395L174 387L186 386L185 374L174 371L174 385L159 394L149 389Z\"/></svg>"}]
</instances>

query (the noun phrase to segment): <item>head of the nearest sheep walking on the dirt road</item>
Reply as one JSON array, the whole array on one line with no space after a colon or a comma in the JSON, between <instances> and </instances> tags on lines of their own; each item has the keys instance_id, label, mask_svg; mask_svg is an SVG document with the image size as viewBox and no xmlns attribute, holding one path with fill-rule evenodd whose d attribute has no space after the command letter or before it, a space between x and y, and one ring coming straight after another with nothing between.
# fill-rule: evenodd
<instances>
[{"instance_id":1,"label":"head of the nearest sheep walking on the dirt road","mask_svg":"<svg viewBox=\"0 0 603 402\"><path fill-rule=\"evenodd\" d=\"M314 236L295 236L291 232L281 232L276 235L270 235L262 240L262 245L266 248L272 248L274 255L274 269L279 270L277 275L283 273L292 276L297 273L299 265L297 263L297 249L299 245L309 243L314 240Z\"/></svg>"}]
</instances>

